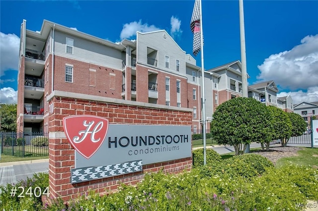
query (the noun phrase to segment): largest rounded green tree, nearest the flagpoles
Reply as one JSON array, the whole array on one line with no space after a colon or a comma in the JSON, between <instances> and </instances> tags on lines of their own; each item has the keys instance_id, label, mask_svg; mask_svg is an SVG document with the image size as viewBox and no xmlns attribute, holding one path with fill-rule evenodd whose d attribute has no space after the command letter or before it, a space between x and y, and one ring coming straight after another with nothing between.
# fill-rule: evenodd
<instances>
[{"instance_id":1,"label":"largest rounded green tree, nearest the flagpoles","mask_svg":"<svg viewBox=\"0 0 318 211\"><path fill-rule=\"evenodd\" d=\"M244 154L247 144L267 141L269 126L270 114L265 105L252 98L235 98L217 107L211 134L218 144L234 146L239 155Z\"/></svg>"}]
</instances>

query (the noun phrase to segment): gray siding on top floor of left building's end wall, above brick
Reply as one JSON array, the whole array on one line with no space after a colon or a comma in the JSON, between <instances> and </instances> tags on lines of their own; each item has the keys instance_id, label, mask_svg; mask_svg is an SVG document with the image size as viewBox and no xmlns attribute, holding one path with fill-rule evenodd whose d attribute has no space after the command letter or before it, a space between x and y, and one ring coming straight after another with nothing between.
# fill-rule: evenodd
<instances>
[{"instance_id":1,"label":"gray siding on top floor of left building's end wall, above brick","mask_svg":"<svg viewBox=\"0 0 318 211\"><path fill-rule=\"evenodd\" d=\"M66 53L66 38L74 40L73 54ZM116 49L84 40L73 35L68 35L60 31L55 31L54 52L57 55L64 57L100 64L114 69L121 69L122 59L125 59L125 54Z\"/></svg>"}]
</instances>

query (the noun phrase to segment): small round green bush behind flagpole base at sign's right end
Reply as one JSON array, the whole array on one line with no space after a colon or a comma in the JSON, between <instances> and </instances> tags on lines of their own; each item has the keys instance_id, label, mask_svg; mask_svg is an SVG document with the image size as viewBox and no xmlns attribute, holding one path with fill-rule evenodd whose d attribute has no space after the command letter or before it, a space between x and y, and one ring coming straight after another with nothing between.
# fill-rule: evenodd
<instances>
[{"instance_id":1,"label":"small round green bush behind flagpole base at sign's right end","mask_svg":"<svg viewBox=\"0 0 318 211\"><path fill-rule=\"evenodd\" d=\"M203 165L204 157L203 157L203 149L194 150L192 152L192 158L193 158L193 167L198 167ZM213 149L206 149L206 163L214 163L214 162L220 162L221 156L214 151Z\"/></svg>"}]
</instances>

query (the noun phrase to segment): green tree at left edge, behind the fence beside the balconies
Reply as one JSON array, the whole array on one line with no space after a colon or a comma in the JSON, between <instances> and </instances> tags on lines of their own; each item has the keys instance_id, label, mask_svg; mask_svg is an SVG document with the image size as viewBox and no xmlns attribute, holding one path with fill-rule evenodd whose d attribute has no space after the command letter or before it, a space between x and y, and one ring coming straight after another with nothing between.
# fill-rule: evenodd
<instances>
[{"instance_id":1,"label":"green tree at left edge, behind the fence beside the balconies","mask_svg":"<svg viewBox=\"0 0 318 211\"><path fill-rule=\"evenodd\" d=\"M0 123L1 132L16 131L16 104L0 105Z\"/></svg>"}]
</instances>

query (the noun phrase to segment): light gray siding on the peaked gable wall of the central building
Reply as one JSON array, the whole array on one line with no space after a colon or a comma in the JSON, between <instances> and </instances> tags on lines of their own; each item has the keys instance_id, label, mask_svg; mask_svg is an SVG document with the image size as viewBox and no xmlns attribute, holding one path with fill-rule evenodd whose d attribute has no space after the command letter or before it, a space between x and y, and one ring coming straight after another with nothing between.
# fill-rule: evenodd
<instances>
[{"instance_id":1,"label":"light gray siding on the peaked gable wall of the central building","mask_svg":"<svg viewBox=\"0 0 318 211\"><path fill-rule=\"evenodd\" d=\"M166 35L166 38L163 37ZM147 48L157 51L159 69L185 76L185 52L164 31L137 33L137 62L147 64ZM165 55L169 56L169 68L165 68ZM176 71L176 59L180 61L180 71Z\"/></svg>"}]
</instances>

